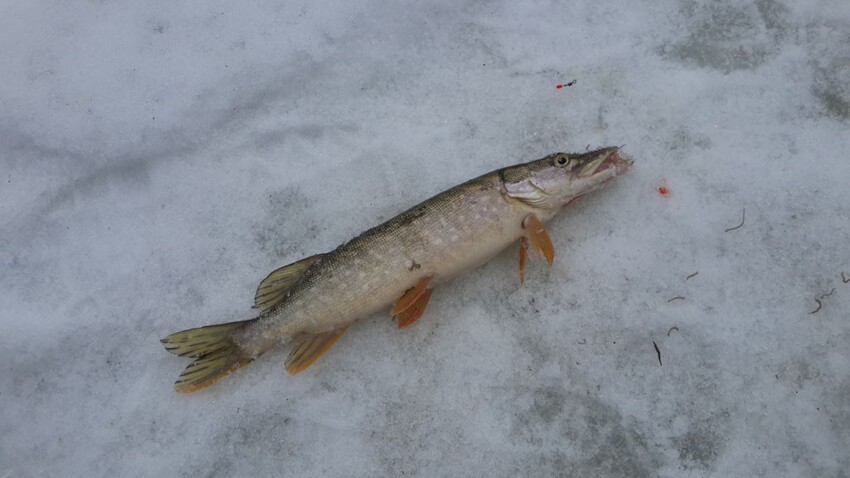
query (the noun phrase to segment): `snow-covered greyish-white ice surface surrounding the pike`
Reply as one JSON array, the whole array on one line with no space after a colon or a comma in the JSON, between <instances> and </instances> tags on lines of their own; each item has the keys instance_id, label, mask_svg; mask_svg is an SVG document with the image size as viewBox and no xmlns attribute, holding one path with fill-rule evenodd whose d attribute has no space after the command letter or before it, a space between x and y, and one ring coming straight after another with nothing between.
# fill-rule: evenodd
<instances>
[{"instance_id":1,"label":"snow-covered greyish-white ice surface surrounding the pike","mask_svg":"<svg viewBox=\"0 0 850 478\"><path fill-rule=\"evenodd\" d=\"M847 476L850 2L4 2L0 44L0 476ZM622 144L525 286L172 391L159 339L275 267Z\"/></svg>"}]
</instances>

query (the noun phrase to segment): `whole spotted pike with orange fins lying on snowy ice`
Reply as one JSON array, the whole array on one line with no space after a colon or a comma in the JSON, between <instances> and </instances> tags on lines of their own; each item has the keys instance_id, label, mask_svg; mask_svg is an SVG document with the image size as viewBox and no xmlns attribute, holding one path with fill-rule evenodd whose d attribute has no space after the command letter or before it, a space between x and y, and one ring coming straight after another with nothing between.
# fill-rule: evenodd
<instances>
[{"instance_id":1,"label":"whole spotted pike with orange fins lying on snowy ice","mask_svg":"<svg viewBox=\"0 0 850 478\"><path fill-rule=\"evenodd\" d=\"M177 392L205 388L281 344L293 343L286 371L297 374L357 320L382 310L408 327L440 284L519 243L519 280L528 249L551 266L544 223L565 206L623 175L633 161L620 147L554 153L491 171L367 230L331 252L283 266L263 279L252 319L173 333L161 342L193 361Z\"/></svg>"}]
</instances>

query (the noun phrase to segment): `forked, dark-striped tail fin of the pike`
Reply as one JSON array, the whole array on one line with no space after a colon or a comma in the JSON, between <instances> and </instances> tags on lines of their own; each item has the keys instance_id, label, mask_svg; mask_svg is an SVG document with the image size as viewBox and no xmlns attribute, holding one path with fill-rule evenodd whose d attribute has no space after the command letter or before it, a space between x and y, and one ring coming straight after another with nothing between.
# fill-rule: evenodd
<instances>
[{"instance_id":1,"label":"forked, dark-striped tail fin of the pike","mask_svg":"<svg viewBox=\"0 0 850 478\"><path fill-rule=\"evenodd\" d=\"M239 330L256 320L198 327L162 339L165 350L195 359L174 382L174 390L181 393L200 390L254 360L239 348L235 337Z\"/></svg>"}]
</instances>

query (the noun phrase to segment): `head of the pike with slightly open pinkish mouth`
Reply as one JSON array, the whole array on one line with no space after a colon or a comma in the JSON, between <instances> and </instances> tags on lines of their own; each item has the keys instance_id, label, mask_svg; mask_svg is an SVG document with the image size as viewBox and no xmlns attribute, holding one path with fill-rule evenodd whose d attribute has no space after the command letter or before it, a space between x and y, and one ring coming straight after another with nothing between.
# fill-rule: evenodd
<instances>
[{"instance_id":1,"label":"head of the pike with slightly open pinkish mouth","mask_svg":"<svg viewBox=\"0 0 850 478\"><path fill-rule=\"evenodd\" d=\"M587 153L555 153L499 171L506 196L534 209L557 212L585 194L624 174L632 160L620 148Z\"/></svg>"}]
</instances>

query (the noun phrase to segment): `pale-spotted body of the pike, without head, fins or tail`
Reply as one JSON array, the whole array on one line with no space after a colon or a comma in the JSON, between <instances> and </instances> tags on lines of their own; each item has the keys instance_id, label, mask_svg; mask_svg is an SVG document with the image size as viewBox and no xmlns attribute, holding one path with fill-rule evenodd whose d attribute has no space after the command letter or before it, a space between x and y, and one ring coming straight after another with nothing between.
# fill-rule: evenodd
<instances>
[{"instance_id":1,"label":"pale-spotted body of the pike, without head, fins or tail","mask_svg":"<svg viewBox=\"0 0 850 478\"><path fill-rule=\"evenodd\" d=\"M483 264L519 239L528 215L500 185L496 173L481 176L325 254L257 328L327 331L387 308L425 277L439 283Z\"/></svg>"}]
</instances>

